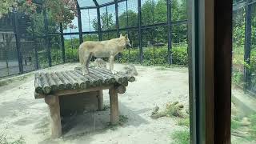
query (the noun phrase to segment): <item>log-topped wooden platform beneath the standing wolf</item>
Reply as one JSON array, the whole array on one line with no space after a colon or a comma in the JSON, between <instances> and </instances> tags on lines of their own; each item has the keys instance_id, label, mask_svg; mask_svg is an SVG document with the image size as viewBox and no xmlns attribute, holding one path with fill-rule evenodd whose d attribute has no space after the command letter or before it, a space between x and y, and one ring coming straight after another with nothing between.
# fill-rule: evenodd
<instances>
[{"instance_id":1,"label":"log-topped wooden platform beneath the standing wolf","mask_svg":"<svg viewBox=\"0 0 256 144\"><path fill-rule=\"evenodd\" d=\"M59 96L71 97L72 94L82 94L86 97L92 94L91 92L96 92L94 95L98 98L98 110L102 110L102 90L109 89L110 122L117 124L118 94L125 93L128 82L134 81L134 76L123 73L112 74L110 70L98 67L91 67L88 75L82 75L81 70L36 73L34 98L45 98L50 109L52 137L58 138L62 135ZM73 102L76 101L78 102L78 100Z\"/></svg>"}]
</instances>

